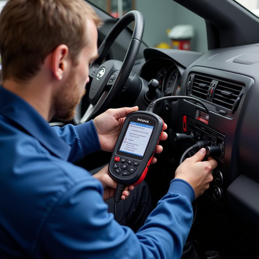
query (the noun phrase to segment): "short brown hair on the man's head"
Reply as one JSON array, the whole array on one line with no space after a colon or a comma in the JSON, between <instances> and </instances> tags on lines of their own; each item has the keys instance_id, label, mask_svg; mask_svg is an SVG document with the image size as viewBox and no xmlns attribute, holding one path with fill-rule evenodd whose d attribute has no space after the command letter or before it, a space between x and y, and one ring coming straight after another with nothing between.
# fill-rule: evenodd
<instances>
[{"instance_id":1,"label":"short brown hair on the man's head","mask_svg":"<svg viewBox=\"0 0 259 259\"><path fill-rule=\"evenodd\" d=\"M87 18L99 25L84 0L9 0L0 15L2 80L30 79L60 44L68 46L76 63L88 41Z\"/></svg>"}]
</instances>

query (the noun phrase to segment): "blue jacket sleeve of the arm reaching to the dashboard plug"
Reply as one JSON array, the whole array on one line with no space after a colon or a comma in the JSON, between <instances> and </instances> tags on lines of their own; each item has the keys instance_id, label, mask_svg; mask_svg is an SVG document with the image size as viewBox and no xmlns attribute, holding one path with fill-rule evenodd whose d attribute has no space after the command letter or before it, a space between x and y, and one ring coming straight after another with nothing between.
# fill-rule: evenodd
<instances>
[{"instance_id":1,"label":"blue jacket sleeve of the arm reaching to the dashboard plug","mask_svg":"<svg viewBox=\"0 0 259 259\"><path fill-rule=\"evenodd\" d=\"M96 182L78 183L62 195L44 224L34 257L181 257L193 218L194 191L187 182L171 182L167 195L136 234L107 212Z\"/></svg>"}]
</instances>

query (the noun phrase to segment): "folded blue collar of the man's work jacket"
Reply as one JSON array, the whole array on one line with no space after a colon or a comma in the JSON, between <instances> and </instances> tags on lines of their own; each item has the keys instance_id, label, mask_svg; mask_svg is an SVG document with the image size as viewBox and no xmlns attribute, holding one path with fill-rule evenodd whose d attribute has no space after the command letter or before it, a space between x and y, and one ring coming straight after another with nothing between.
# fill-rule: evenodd
<instances>
[{"instance_id":1,"label":"folded blue collar of the man's work jacket","mask_svg":"<svg viewBox=\"0 0 259 259\"><path fill-rule=\"evenodd\" d=\"M71 147L30 104L1 85L0 114L24 128L55 156L68 159Z\"/></svg>"}]
</instances>

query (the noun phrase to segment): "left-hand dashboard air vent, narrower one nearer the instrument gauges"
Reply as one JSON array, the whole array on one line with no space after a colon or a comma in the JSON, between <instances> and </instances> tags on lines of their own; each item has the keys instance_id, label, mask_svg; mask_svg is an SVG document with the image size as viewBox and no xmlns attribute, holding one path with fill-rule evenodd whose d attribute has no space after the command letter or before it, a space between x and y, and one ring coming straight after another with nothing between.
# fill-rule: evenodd
<instances>
[{"instance_id":1,"label":"left-hand dashboard air vent, narrower one nearer the instrument gauges","mask_svg":"<svg viewBox=\"0 0 259 259\"><path fill-rule=\"evenodd\" d=\"M206 100L212 78L195 75L192 83L192 95Z\"/></svg>"}]
</instances>

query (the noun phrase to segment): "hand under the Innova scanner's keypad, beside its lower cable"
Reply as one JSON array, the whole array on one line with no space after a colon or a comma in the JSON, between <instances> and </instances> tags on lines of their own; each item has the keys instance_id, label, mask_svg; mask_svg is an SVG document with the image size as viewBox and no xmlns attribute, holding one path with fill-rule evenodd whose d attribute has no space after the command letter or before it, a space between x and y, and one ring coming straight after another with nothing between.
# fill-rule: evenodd
<instances>
[{"instance_id":1,"label":"hand under the Innova scanner's keypad, beside its lower cable","mask_svg":"<svg viewBox=\"0 0 259 259\"><path fill-rule=\"evenodd\" d=\"M98 179L104 189L103 199L107 200L113 198L114 192L117 186L117 182L115 182L108 174L108 165L101 169L98 173L93 175L96 179ZM126 186L125 190L122 193L121 199L125 200L129 197L130 191L134 190L134 185Z\"/></svg>"}]
</instances>

